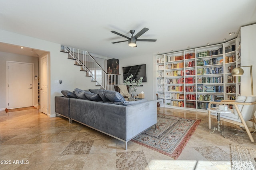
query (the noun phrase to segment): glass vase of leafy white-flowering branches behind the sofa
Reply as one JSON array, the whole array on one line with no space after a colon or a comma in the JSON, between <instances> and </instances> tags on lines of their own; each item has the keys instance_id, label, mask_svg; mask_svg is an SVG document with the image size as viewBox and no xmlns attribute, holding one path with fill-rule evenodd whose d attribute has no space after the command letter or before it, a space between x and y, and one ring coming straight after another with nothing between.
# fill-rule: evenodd
<instances>
[{"instance_id":1,"label":"glass vase of leafy white-flowering branches behind the sofa","mask_svg":"<svg viewBox=\"0 0 256 170\"><path fill-rule=\"evenodd\" d=\"M131 93L130 101L135 101L134 92L137 90L137 86L140 86L142 84L143 77L140 77L139 80L132 79L133 75L131 74L129 77L127 77L124 80L124 85L130 86L129 91Z\"/></svg>"}]
</instances>

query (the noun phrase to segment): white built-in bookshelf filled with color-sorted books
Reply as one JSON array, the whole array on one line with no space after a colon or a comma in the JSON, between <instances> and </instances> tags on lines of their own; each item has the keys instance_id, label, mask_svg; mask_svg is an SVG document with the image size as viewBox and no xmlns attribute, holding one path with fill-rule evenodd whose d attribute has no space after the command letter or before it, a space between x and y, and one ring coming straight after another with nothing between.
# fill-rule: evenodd
<instances>
[{"instance_id":1,"label":"white built-in bookshelf filled with color-sorted books","mask_svg":"<svg viewBox=\"0 0 256 170\"><path fill-rule=\"evenodd\" d=\"M156 55L156 93L161 107L205 110L211 101L235 100L240 77L240 39ZM238 44L238 45L237 45Z\"/></svg>"}]
</instances>

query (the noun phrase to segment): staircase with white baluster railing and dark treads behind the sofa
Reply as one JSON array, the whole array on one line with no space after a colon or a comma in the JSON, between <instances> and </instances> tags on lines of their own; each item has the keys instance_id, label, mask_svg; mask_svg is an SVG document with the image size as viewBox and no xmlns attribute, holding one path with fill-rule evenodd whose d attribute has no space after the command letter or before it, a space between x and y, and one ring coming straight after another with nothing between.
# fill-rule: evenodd
<instances>
[{"instance_id":1,"label":"staircase with white baluster railing and dark treads behind the sofa","mask_svg":"<svg viewBox=\"0 0 256 170\"><path fill-rule=\"evenodd\" d=\"M63 45L61 45L60 51L68 53L68 59L74 60L74 65L80 66L80 71L86 72L86 76L90 76L91 81L96 82L96 86L114 91L114 85L120 84L120 74L106 73L87 51Z\"/></svg>"}]
</instances>

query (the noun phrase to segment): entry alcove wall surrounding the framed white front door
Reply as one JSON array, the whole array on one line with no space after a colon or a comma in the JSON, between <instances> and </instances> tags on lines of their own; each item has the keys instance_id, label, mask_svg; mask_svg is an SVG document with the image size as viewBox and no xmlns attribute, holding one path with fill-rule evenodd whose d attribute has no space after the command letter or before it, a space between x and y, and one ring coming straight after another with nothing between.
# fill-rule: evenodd
<instances>
[{"instance_id":1,"label":"entry alcove wall surrounding the framed white front door","mask_svg":"<svg viewBox=\"0 0 256 170\"><path fill-rule=\"evenodd\" d=\"M6 108L6 61L34 63L34 73L38 76L38 57L30 57L0 51L0 110ZM38 106L38 79L34 79L34 106Z\"/></svg>"}]
</instances>

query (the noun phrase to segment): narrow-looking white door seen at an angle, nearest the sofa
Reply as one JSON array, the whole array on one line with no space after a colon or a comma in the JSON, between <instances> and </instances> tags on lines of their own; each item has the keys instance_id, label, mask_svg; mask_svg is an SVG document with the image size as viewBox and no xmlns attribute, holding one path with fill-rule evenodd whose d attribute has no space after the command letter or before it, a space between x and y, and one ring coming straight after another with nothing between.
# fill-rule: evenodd
<instances>
[{"instance_id":1,"label":"narrow-looking white door seen at an angle, nearest the sofa","mask_svg":"<svg viewBox=\"0 0 256 170\"><path fill-rule=\"evenodd\" d=\"M48 55L41 58L40 109L48 114Z\"/></svg>"}]
</instances>

